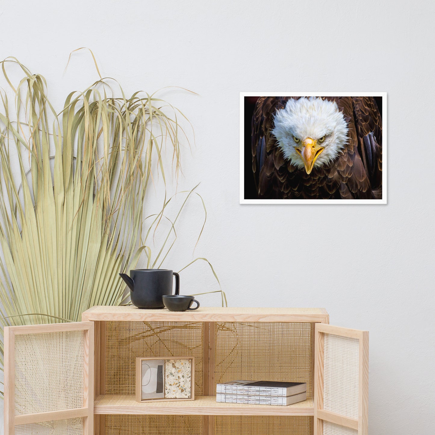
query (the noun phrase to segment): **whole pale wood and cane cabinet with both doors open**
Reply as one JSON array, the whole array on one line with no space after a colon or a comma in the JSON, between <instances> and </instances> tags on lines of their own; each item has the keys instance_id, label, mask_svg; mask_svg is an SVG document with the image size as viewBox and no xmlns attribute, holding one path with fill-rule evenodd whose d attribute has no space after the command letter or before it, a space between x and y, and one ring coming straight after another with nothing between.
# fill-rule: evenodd
<instances>
[{"instance_id":1,"label":"whole pale wood and cane cabinet with both doors open","mask_svg":"<svg viewBox=\"0 0 435 435\"><path fill-rule=\"evenodd\" d=\"M93 307L82 320L5 328L5 435L368 434L368 333L328 325L323 308ZM195 400L136 402L135 358L180 355L195 358ZM308 398L217 403L234 379L307 382Z\"/></svg>"}]
</instances>

